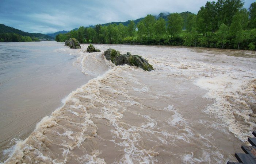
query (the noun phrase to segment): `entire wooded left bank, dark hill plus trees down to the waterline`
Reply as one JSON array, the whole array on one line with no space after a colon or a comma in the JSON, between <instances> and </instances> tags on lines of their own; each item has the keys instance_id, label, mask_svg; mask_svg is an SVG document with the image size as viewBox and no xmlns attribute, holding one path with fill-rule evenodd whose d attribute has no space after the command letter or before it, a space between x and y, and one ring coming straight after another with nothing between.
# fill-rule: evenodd
<instances>
[{"instance_id":1,"label":"entire wooded left bank, dark hill plus trees down to the waterline","mask_svg":"<svg viewBox=\"0 0 256 164\"><path fill-rule=\"evenodd\" d=\"M0 42L33 42L40 40L53 40L51 36L40 33L28 33L13 27L0 24Z\"/></svg>"}]
</instances>

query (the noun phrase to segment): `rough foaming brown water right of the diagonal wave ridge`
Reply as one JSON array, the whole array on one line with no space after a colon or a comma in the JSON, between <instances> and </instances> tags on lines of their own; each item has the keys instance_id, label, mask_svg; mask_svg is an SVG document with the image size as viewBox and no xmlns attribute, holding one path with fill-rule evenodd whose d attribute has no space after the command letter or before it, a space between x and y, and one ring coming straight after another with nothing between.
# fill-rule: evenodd
<instances>
[{"instance_id":1,"label":"rough foaming brown water right of the diagonal wave ridge","mask_svg":"<svg viewBox=\"0 0 256 164\"><path fill-rule=\"evenodd\" d=\"M78 55L94 77L44 117L5 163L226 163L256 124L256 54L96 45L149 60L154 71Z\"/></svg>"}]
</instances>

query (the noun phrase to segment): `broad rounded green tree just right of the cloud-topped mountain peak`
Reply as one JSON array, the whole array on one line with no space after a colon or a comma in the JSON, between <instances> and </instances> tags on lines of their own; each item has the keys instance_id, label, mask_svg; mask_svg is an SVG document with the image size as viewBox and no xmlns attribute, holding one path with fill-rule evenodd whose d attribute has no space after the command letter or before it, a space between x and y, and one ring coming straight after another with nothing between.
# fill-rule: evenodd
<instances>
[{"instance_id":1,"label":"broad rounded green tree just right of the cloud-topped mountain peak","mask_svg":"<svg viewBox=\"0 0 256 164\"><path fill-rule=\"evenodd\" d=\"M168 16L167 29L171 37L179 35L183 27L183 19L178 13L171 13Z\"/></svg>"}]
</instances>

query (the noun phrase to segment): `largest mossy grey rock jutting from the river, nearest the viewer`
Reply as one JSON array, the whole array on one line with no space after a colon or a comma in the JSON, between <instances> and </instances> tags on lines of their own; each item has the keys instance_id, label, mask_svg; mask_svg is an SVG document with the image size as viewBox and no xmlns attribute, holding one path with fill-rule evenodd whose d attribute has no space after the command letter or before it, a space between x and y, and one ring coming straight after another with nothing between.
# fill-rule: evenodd
<instances>
[{"instance_id":1,"label":"largest mossy grey rock jutting from the river, nearest the viewer","mask_svg":"<svg viewBox=\"0 0 256 164\"><path fill-rule=\"evenodd\" d=\"M120 54L119 51L109 48L104 52L104 55L107 60L111 60L111 62L117 66L127 64L129 66L140 67L145 71L154 70L152 65L150 65L146 59L139 55L131 55L130 52L127 52L126 54Z\"/></svg>"}]
</instances>

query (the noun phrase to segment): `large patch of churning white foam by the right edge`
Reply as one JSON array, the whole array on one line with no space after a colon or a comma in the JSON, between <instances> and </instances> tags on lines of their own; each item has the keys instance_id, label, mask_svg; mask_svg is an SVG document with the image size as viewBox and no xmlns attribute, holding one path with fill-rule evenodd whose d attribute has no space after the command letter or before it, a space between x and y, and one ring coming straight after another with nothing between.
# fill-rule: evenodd
<instances>
[{"instance_id":1,"label":"large patch of churning white foam by the right edge","mask_svg":"<svg viewBox=\"0 0 256 164\"><path fill-rule=\"evenodd\" d=\"M242 141L246 141L253 128L256 127L253 111L247 98L249 97L251 103L255 101L253 97L248 96L249 88L255 95L255 89L252 90L251 83L251 80L237 79L232 75L203 77L195 81L195 85L209 90L205 95L206 98L215 100L215 103L207 106L204 112L219 118L228 126L229 131ZM242 132L241 129L248 130Z\"/></svg>"}]
</instances>

